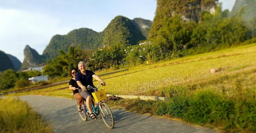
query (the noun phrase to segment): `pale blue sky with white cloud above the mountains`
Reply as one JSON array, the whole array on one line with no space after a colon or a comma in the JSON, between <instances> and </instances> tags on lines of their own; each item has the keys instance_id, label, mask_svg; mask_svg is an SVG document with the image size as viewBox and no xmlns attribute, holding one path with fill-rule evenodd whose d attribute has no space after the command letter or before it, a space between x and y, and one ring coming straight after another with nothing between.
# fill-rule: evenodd
<instances>
[{"instance_id":1,"label":"pale blue sky with white cloud above the mountains","mask_svg":"<svg viewBox=\"0 0 256 133\"><path fill-rule=\"evenodd\" d=\"M231 11L235 0L219 0ZM101 32L117 15L153 20L156 0L0 0L0 50L23 62L29 45L42 54L56 34Z\"/></svg>"}]
</instances>

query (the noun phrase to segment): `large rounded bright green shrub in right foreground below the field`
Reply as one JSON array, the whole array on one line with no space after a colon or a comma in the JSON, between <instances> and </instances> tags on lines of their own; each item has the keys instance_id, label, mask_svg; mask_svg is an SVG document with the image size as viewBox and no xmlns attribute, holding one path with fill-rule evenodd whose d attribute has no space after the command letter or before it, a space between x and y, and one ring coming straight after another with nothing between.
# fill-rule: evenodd
<instances>
[{"instance_id":1,"label":"large rounded bright green shrub in right foreground below the field","mask_svg":"<svg viewBox=\"0 0 256 133\"><path fill-rule=\"evenodd\" d=\"M189 102L184 119L197 124L224 124L234 113L234 102L210 90L195 94Z\"/></svg>"}]
</instances>

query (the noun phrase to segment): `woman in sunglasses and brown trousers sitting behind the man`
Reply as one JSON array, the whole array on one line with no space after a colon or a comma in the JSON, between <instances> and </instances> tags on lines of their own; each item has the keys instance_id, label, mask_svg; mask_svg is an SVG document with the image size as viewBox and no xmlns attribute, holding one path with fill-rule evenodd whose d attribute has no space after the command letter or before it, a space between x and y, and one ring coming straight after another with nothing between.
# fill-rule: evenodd
<instances>
[{"instance_id":1,"label":"woman in sunglasses and brown trousers sitting behind the man","mask_svg":"<svg viewBox=\"0 0 256 133\"><path fill-rule=\"evenodd\" d=\"M81 112L82 111L81 105L83 104L83 97L81 96L79 91L76 89L76 88L78 88L78 85L75 81L75 73L77 73L77 70L71 69L70 75L73 78L70 79L70 81L69 81L69 90L73 90L73 97L77 100L77 103L78 103L77 111Z\"/></svg>"}]
</instances>

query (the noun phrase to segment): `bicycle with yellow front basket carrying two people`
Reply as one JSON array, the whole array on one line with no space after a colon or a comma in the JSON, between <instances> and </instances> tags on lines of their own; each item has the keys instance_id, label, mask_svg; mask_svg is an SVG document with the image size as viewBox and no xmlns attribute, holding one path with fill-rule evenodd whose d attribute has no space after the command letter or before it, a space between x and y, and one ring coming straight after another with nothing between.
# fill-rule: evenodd
<instances>
[{"instance_id":1,"label":"bicycle with yellow front basket carrying two people","mask_svg":"<svg viewBox=\"0 0 256 133\"><path fill-rule=\"evenodd\" d=\"M103 86L101 83L98 84L96 88L93 88L92 86L88 85L86 89L94 89L94 93L92 93L93 98L95 100L94 103L96 103L96 107L94 106L94 103L92 103L92 112L94 116L97 119L97 116L100 114L104 124L107 128L112 129L114 127L114 118L111 109L109 106L104 103L102 100L106 98L106 92L104 89L99 89L100 86ZM78 89L78 88L76 88ZM76 101L76 106L78 107L78 102ZM79 115L83 121L86 121L89 116L89 110L86 107L86 104L83 102L81 106L82 111L79 112Z\"/></svg>"}]
</instances>

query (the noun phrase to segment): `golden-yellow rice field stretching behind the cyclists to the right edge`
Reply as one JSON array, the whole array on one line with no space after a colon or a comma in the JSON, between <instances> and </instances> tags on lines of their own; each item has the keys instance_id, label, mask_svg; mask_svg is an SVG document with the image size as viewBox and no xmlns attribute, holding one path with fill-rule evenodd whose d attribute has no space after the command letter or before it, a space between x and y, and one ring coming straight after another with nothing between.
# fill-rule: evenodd
<instances>
[{"instance_id":1,"label":"golden-yellow rice field stretching behind the cyclists to the right edge","mask_svg":"<svg viewBox=\"0 0 256 133\"><path fill-rule=\"evenodd\" d=\"M211 68L219 71L213 74L211 73ZM242 78L249 75L252 81L255 81L255 70L256 44L251 44L174 60L160 61L149 65L130 67L128 71L101 76L101 78L106 82L106 86L102 88L105 88L108 94L161 96L168 86L185 85L193 89L193 86L200 85L203 82L219 80L230 75L242 74ZM248 74L243 74L246 72ZM232 80L235 79L232 78ZM94 85L96 86L98 83L98 81L95 81ZM228 83L225 85L228 85ZM250 83L250 85L255 86L254 83ZM56 90L65 86L67 89ZM220 86L223 87L223 84L217 86L216 83L215 85L208 84L203 87L217 87L218 90L221 90ZM68 90L68 83L20 94L55 95L72 98L72 91ZM165 96L169 95L166 94Z\"/></svg>"}]
</instances>

